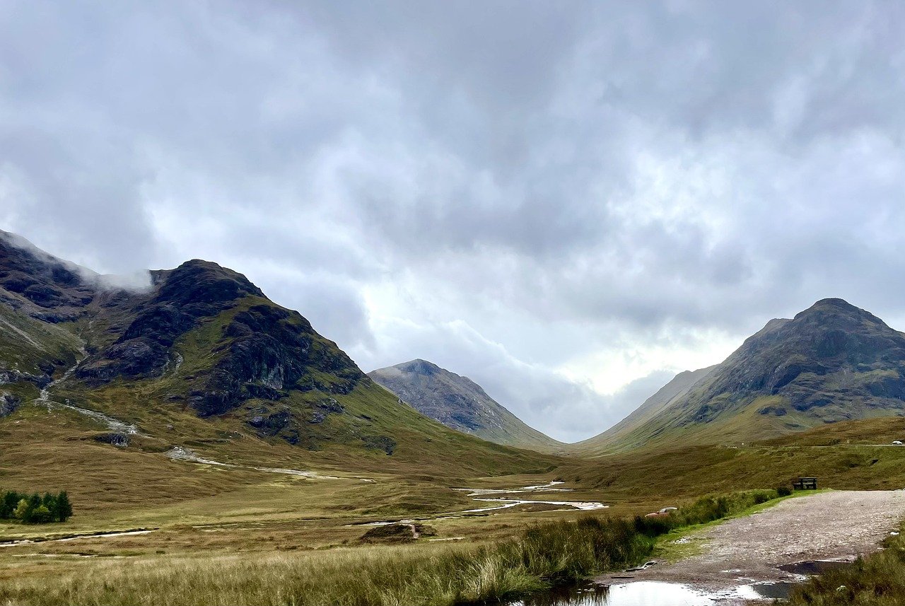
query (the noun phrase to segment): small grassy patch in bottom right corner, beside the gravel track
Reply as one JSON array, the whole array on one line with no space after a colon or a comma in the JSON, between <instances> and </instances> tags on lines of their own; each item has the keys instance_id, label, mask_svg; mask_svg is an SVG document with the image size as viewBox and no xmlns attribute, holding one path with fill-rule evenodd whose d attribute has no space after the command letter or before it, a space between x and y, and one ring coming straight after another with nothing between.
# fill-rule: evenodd
<instances>
[{"instance_id":1,"label":"small grassy patch in bottom right corner, beside the gravel track","mask_svg":"<svg viewBox=\"0 0 905 606\"><path fill-rule=\"evenodd\" d=\"M899 535L887 537L884 549L859 558L852 565L821 574L795 588L794 606L905 604L905 524Z\"/></svg>"}]
</instances>

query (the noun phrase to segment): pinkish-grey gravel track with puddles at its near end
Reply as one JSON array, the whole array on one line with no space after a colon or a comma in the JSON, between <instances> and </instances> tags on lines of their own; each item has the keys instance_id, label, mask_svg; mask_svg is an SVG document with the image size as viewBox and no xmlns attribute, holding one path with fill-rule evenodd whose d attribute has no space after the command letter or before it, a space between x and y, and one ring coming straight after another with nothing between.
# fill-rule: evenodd
<instances>
[{"instance_id":1,"label":"pinkish-grey gravel track with puddles at its near end","mask_svg":"<svg viewBox=\"0 0 905 606\"><path fill-rule=\"evenodd\" d=\"M804 560L853 560L879 549L905 518L905 491L840 490L786 499L683 540L701 554L631 573L636 581L684 582L720 590L748 582L792 581L776 568ZM628 575L623 575L623 578ZM601 582L617 581L614 577Z\"/></svg>"}]
</instances>

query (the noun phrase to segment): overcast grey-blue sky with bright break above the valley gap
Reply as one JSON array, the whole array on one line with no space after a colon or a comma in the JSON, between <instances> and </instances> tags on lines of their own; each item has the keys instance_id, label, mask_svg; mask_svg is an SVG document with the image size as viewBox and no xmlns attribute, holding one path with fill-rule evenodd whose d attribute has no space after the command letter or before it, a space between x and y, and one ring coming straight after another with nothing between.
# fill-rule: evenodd
<instances>
[{"instance_id":1,"label":"overcast grey-blue sky with bright break above the valley gap","mask_svg":"<svg viewBox=\"0 0 905 606\"><path fill-rule=\"evenodd\" d=\"M826 297L905 328L905 5L0 0L0 228L202 258L559 440Z\"/></svg>"}]
</instances>

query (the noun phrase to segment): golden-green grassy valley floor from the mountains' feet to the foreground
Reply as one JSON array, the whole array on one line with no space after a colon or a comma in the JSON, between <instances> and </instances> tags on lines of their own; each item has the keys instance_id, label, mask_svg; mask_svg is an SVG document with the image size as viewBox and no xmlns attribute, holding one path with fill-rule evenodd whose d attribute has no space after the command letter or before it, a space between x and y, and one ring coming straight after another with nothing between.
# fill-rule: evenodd
<instances>
[{"instance_id":1,"label":"golden-green grassy valley floor from the mountains' feet to the foreground","mask_svg":"<svg viewBox=\"0 0 905 606\"><path fill-rule=\"evenodd\" d=\"M538 568L517 575L500 572L500 562L509 570L506 558L520 552L494 550L523 545L527 529L538 524L635 516L687 506L704 494L776 488L802 475L820 478L824 488L905 487L905 448L879 445L902 435L905 420L900 419L837 423L745 446L648 450L590 460L501 447L498 460L492 450L481 450L483 459L471 460L472 450L463 448L471 438L463 436L459 443L440 436L438 441L453 440L439 449L442 456L417 460L414 440L424 440L425 428L412 434L410 454L398 458L342 445L310 451L258 439L228 418L212 423L163 404L138 408L136 392L121 389L113 385L101 392L98 408L137 422L153 436L135 439L127 449L95 440L105 431L65 409L47 412L24 405L0 424L0 488L65 489L75 507L65 524L0 524L0 541L154 530L0 547L4 600L186 603L186 596L192 596L196 603L242 598L245 603L357 604L372 603L381 594L386 601L373 603L430 603L414 601L425 596L452 603L528 590L556 576L540 560ZM176 430L167 429L168 419L178 421L173 423ZM172 460L165 452L173 444L234 465L315 470L337 479ZM405 440L400 444L405 453ZM510 489L493 497L525 497L519 487L553 479L564 481L562 488L570 491L528 498L600 501L611 507L594 515L547 505L449 515L492 505L452 488ZM423 520L436 535L405 546L358 544L367 530L362 523L400 518ZM585 539L576 535L569 540L580 544ZM650 544L642 541L636 545L640 551L632 554L643 557ZM608 565L614 562L621 560ZM434 565L439 568L430 568ZM397 566L414 579L405 592L390 589L400 582L393 572ZM353 569L371 575L356 583L354 592L343 588ZM442 577L447 582L441 586L437 571L454 574ZM205 593L190 593L173 581L174 575L194 579ZM481 581L455 584L449 580L455 575ZM312 589L312 583L325 579L333 580L320 593ZM150 592L160 592L156 602ZM314 597L305 602L300 595ZM337 602L337 595L345 602ZM314 601L317 596L321 602Z\"/></svg>"}]
</instances>

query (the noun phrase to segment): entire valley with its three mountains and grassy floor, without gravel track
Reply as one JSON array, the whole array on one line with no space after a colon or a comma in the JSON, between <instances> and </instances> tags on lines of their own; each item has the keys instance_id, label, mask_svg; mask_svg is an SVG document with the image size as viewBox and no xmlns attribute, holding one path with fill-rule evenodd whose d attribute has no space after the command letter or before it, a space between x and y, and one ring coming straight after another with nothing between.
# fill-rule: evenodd
<instances>
[{"instance_id":1,"label":"entire valley with its three mountains and grassy floor, without gravel track","mask_svg":"<svg viewBox=\"0 0 905 606\"><path fill-rule=\"evenodd\" d=\"M215 263L125 289L11 234L0 253L0 488L75 511L0 520L0 601L512 600L674 552L678 528L631 521L665 507L695 526L801 476L905 488L905 336L838 299L564 444L424 360L365 374Z\"/></svg>"}]
</instances>

